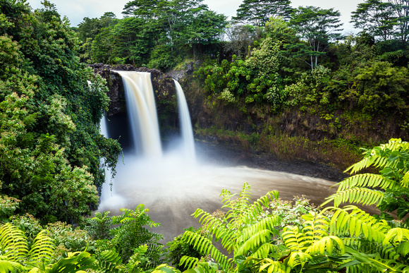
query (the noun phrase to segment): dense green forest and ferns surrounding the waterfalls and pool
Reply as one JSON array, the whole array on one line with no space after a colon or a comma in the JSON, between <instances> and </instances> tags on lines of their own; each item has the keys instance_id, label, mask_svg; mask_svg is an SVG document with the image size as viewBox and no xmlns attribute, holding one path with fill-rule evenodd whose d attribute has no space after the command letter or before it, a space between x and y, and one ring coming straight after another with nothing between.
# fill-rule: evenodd
<instances>
[{"instance_id":1,"label":"dense green forest and ferns surrounding the waterfalls and pool","mask_svg":"<svg viewBox=\"0 0 409 273\"><path fill-rule=\"evenodd\" d=\"M409 2L363 0L355 35L339 18L135 0L71 28L47 0L0 0L0 272L408 272ZM223 210L197 209L201 227L164 249L144 205L90 217L121 146L99 133L108 90L87 63L182 71L197 138L350 176L326 208L223 190Z\"/></svg>"}]
</instances>

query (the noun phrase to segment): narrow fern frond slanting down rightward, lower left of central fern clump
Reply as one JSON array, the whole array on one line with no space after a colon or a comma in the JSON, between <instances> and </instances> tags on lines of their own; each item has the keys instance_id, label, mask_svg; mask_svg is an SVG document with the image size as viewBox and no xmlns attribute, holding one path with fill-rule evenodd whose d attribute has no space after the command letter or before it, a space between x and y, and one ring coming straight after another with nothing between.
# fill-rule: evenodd
<instances>
[{"instance_id":1,"label":"narrow fern frond slanting down rightward, lower left of central fern clump","mask_svg":"<svg viewBox=\"0 0 409 273\"><path fill-rule=\"evenodd\" d=\"M182 240L190 245L193 245L193 248L200 253L211 255L212 258L218 262L224 270L228 270L233 267L231 260L228 260L226 255L221 254L221 252L214 247L214 245L212 245L212 241L210 241L208 238L205 238L204 236L192 231L185 231L185 233L183 233Z\"/></svg>"}]
</instances>

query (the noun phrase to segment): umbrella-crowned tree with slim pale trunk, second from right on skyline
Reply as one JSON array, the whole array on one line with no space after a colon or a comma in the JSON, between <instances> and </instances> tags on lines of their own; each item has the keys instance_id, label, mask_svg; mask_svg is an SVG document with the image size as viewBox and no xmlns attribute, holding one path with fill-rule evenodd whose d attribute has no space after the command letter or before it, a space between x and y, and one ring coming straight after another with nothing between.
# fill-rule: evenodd
<instances>
[{"instance_id":1,"label":"umbrella-crowned tree with slim pale trunk, second from right on skyline","mask_svg":"<svg viewBox=\"0 0 409 273\"><path fill-rule=\"evenodd\" d=\"M325 55L330 42L341 39L339 11L334 8L322 9L314 6L300 6L291 14L290 24L298 32L302 40L307 41L307 47L301 47L299 56L309 56L306 61L311 71L318 66L318 59ZM299 44L300 46L300 44Z\"/></svg>"}]
</instances>

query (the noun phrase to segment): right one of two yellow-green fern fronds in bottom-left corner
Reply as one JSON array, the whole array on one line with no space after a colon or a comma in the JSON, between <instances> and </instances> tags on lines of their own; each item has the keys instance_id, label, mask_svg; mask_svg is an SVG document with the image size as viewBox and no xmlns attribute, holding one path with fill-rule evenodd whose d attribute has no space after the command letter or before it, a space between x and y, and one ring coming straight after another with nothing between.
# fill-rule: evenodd
<instances>
[{"instance_id":1,"label":"right one of two yellow-green fern fronds in bottom-left corner","mask_svg":"<svg viewBox=\"0 0 409 273\"><path fill-rule=\"evenodd\" d=\"M54 256L55 249L56 245L54 245L53 240L49 237L49 231L44 229L35 237L34 243L28 253L28 261L35 265L43 259L49 261Z\"/></svg>"}]
</instances>

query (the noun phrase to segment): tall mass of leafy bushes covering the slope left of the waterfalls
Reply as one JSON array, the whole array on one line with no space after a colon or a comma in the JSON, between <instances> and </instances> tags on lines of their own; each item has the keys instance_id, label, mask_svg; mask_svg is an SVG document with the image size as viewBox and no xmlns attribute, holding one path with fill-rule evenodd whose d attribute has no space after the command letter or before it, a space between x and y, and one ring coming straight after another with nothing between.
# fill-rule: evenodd
<instances>
[{"instance_id":1,"label":"tall mass of leafy bushes covering the slope left of the waterfalls","mask_svg":"<svg viewBox=\"0 0 409 273\"><path fill-rule=\"evenodd\" d=\"M0 14L1 193L43 222L80 221L104 182L99 159L114 168L121 150L98 131L104 80L79 62L78 40L53 4L32 12L2 0Z\"/></svg>"}]
</instances>

